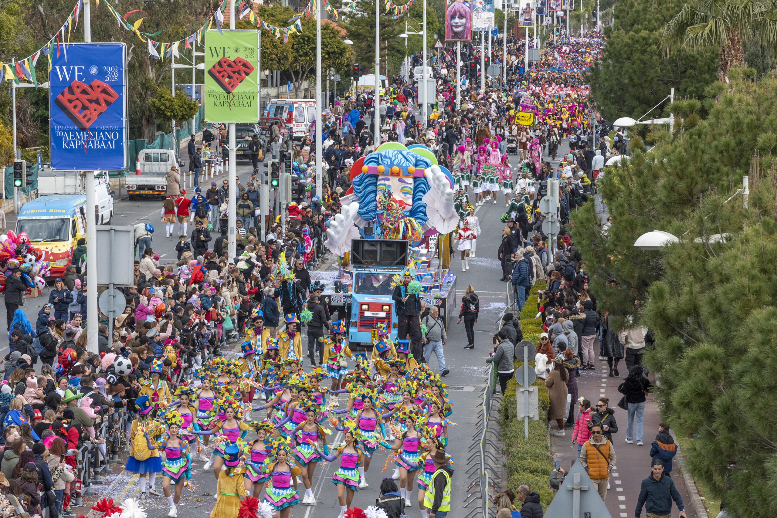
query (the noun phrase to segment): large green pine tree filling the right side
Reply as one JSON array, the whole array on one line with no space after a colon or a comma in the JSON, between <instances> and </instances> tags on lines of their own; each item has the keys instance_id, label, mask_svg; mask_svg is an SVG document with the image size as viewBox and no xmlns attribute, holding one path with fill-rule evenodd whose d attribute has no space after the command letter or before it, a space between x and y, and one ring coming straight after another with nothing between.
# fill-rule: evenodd
<instances>
[{"instance_id":1,"label":"large green pine tree filling the right side","mask_svg":"<svg viewBox=\"0 0 777 518\"><path fill-rule=\"evenodd\" d=\"M598 311L616 328L632 315L653 333L644 363L661 418L692 439L683 452L692 474L737 518L777 509L777 79L754 75L732 68L703 102L674 103L671 138L654 130L646 151L635 137L631 164L605 169L608 231L592 202L570 225ZM745 207L730 196L747 174ZM680 241L636 249L652 230Z\"/></svg>"}]
</instances>

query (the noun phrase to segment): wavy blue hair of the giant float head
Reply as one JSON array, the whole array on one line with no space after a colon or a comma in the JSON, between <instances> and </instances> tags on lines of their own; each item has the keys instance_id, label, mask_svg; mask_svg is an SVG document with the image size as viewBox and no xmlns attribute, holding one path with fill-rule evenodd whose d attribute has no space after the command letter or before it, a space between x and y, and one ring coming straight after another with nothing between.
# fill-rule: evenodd
<instances>
[{"instance_id":1,"label":"wavy blue hair of the giant float head","mask_svg":"<svg viewBox=\"0 0 777 518\"><path fill-rule=\"evenodd\" d=\"M428 230L427 204L423 202L423 195L429 192L429 183L423 172L432 166L428 158L413 152L387 149L375 151L364 158L364 166L361 174L354 177L352 182L354 194L359 197L358 215L364 221L376 221L382 210L378 207L378 176L412 176L413 177L413 205L404 210L406 217L412 217L423 228ZM426 225L426 226L425 226ZM378 232L375 233L376 235ZM374 236L362 235L365 238Z\"/></svg>"}]
</instances>

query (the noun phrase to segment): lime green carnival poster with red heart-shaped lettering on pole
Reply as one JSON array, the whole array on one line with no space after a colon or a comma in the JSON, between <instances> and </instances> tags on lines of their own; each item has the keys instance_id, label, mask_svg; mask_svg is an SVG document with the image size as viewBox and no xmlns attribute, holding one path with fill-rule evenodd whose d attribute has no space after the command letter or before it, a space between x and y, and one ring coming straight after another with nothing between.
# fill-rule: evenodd
<instances>
[{"instance_id":1,"label":"lime green carnival poster with red heart-shaped lettering on pole","mask_svg":"<svg viewBox=\"0 0 777 518\"><path fill-rule=\"evenodd\" d=\"M222 123L259 120L259 32L205 33L205 119Z\"/></svg>"}]
</instances>

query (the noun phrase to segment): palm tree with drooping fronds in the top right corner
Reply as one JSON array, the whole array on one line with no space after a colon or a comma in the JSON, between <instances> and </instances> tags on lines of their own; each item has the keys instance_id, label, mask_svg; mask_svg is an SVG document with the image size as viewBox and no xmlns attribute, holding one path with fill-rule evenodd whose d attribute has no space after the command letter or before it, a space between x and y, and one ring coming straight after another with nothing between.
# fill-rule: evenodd
<instances>
[{"instance_id":1,"label":"palm tree with drooping fronds in the top right corner","mask_svg":"<svg viewBox=\"0 0 777 518\"><path fill-rule=\"evenodd\" d=\"M671 57L681 48L718 50L718 79L728 82L734 64L744 65L742 40L755 31L777 43L777 2L765 0L699 0L685 4L664 27L661 50Z\"/></svg>"}]
</instances>

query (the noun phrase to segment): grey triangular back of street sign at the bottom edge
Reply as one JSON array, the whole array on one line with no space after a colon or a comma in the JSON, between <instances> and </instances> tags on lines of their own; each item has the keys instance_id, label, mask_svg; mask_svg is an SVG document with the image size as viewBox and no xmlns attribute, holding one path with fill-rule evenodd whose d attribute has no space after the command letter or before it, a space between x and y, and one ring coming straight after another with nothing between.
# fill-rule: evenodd
<instances>
[{"instance_id":1,"label":"grey triangular back of street sign at the bottom edge","mask_svg":"<svg viewBox=\"0 0 777 518\"><path fill-rule=\"evenodd\" d=\"M607 510L605 502L601 501L601 496L585 472L583 463L577 459L570 471L567 471L559 492L550 501L545 516L611 518L612 515Z\"/></svg>"}]
</instances>

